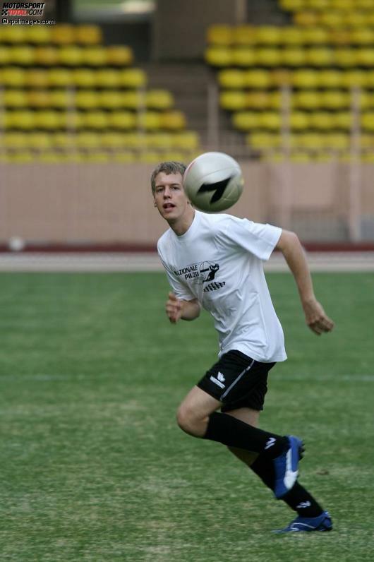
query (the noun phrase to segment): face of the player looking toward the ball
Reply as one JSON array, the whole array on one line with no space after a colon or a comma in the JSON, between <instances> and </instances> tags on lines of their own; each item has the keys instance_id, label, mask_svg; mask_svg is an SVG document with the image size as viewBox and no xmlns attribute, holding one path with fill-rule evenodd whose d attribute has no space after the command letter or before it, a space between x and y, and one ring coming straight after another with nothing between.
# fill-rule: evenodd
<instances>
[{"instance_id":1,"label":"face of the player looking toward the ball","mask_svg":"<svg viewBox=\"0 0 374 562\"><path fill-rule=\"evenodd\" d=\"M159 172L155 179L155 207L168 222L178 220L188 208L188 198L184 193L181 174Z\"/></svg>"}]
</instances>

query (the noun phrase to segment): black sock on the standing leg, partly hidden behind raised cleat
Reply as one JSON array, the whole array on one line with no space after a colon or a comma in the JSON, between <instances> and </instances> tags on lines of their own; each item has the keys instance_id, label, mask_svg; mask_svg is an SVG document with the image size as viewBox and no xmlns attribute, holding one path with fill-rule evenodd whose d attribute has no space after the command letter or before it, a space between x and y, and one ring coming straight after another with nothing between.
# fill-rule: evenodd
<instances>
[{"instance_id":1,"label":"black sock on the standing leg, partly hidden behind raised cleat","mask_svg":"<svg viewBox=\"0 0 374 562\"><path fill-rule=\"evenodd\" d=\"M271 490L273 489L275 472L272 462L263 457L258 457L252 463L251 470L260 477L265 486ZM298 482L283 496L282 500L301 517L318 517L323 512L320 504Z\"/></svg>"}]
</instances>

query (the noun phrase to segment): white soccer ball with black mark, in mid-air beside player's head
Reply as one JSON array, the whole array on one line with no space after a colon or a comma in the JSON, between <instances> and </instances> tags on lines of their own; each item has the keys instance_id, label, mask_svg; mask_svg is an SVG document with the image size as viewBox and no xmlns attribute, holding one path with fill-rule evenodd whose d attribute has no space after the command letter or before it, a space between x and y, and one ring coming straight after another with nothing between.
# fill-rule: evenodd
<instances>
[{"instance_id":1,"label":"white soccer ball with black mark, in mid-air beside player's head","mask_svg":"<svg viewBox=\"0 0 374 562\"><path fill-rule=\"evenodd\" d=\"M206 213L216 213L234 205L241 196L243 184L238 162L224 153L201 154L183 175L188 199Z\"/></svg>"}]
</instances>

